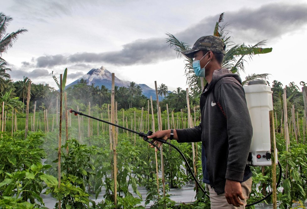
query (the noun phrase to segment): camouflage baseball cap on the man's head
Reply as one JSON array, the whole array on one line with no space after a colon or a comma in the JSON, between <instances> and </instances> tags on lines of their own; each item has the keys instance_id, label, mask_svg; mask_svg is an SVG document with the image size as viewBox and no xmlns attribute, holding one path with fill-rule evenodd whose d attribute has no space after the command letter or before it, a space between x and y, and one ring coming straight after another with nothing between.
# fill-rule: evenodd
<instances>
[{"instance_id":1,"label":"camouflage baseball cap on the man's head","mask_svg":"<svg viewBox=\"0 0 307 209\"><path fill-rule=\"evenodd\" d=\"M199 50L213 51L225 54L225 43L217 36L202 36L194 43L194 46L186 51L181 52L186 57L193 58L194 53Z\"/></svg>"}]
</instances>

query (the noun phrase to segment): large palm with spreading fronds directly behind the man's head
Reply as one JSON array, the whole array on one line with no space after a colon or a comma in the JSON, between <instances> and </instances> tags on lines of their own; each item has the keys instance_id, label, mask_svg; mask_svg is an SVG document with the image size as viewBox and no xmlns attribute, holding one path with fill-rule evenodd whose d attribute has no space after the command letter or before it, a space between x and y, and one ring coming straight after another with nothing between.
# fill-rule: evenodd
<instances>
[{"instance_id":1,"label":"large palm with spreading fronds directly behind the man's head","mask_svg":"<svg viewBox=\"0 0 307 209\"><path fill-rule=\"evenodd\" d=\"M240 74L240 72L245 72L244 62L245 56L248 56L250 59L255 54L266 54L272 51L272 48L261 48L265 45L266 40L260 41L255 45L245 45L243 44L234 44L229 41L230 36L225 30L227 25L220 26L219 23L223 22L224 13L219 17L218 22L215 25L213 35L220 37L226 44L226 53L223 60L223 67L230 69L233 73ZM177 56L181 57L181 52L190 49L190 46L186 43L180 42L174 35L166 33L169 38L166 38L170 47L174 47L174 50L177 52ZM201 93L201 77L198 77L194 74L192 67L193 60L191 58L185 59L185 73L187 77L187 83L189 84L191 91L194 97L199 97ZM267 79L268 74L252 74L248 76L246 81L243 81L243 84L247 84L250 80L264 78ZM205 81L206 82L206 81Z\"/></svg>"}]
</instances>

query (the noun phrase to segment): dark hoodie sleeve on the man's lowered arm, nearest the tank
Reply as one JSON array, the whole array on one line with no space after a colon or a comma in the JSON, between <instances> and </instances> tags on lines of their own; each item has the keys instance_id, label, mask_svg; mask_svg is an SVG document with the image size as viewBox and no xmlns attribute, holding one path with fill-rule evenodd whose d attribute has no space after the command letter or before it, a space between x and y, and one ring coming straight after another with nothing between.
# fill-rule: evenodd
<instances>
[{"instance_id":1,"label":"dark hoodie sleeve on the man's lowered arm, nearest the tank","mask_svg":"<svg viewBox=\"0 0 307 209\"><path fill-rule=\"evenodd\" d=\"M218 91L227 115L229 154L225 178L242 181L253 134L244 89L238 82L224 82Z\"/></svg>"}]
</instances>

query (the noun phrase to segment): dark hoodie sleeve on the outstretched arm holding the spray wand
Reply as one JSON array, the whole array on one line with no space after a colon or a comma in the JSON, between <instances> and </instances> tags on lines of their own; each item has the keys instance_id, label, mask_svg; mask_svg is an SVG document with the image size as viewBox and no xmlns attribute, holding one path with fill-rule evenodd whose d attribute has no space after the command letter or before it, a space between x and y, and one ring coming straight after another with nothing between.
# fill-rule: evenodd
<instances>
[{"instance_id":1,"label":"dark hoodie sleeve on the outstretched arm holding the spray wand","mask_svg":"<svg viewBox=\"0 0 307 209\"><path fill-rule=\"evenodd\" d=\"M178 142L199 142L202 141L202 123L188 129L176 129Z\"/></svg>"}]
</instances>

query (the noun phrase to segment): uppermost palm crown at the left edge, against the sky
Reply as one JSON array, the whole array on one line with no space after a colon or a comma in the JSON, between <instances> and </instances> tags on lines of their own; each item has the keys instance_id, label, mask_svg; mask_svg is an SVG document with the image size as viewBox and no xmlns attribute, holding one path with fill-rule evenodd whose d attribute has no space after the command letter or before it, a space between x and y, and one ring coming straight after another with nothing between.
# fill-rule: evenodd
<instances>
[{"instance_id":1,"label":"uppermost palm crown at the left edge, against the sky","mask_svg":"<svg viewBox=\"0 0 307 209\"><path fill-rule=\"evenodd\" d=\"M18 29L15 32L7 33L6 29L8 24L13 20L10 16L6 16L4 13L0 13L0 59L3 52L6 52L13 46L13 43L17 40L18 35L27 32L26 29ZM5 62L5 61L4 61Z\"/></svg>"}]
</instances>

